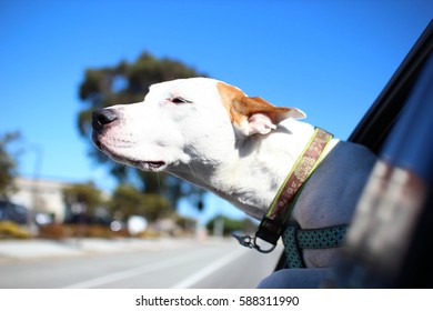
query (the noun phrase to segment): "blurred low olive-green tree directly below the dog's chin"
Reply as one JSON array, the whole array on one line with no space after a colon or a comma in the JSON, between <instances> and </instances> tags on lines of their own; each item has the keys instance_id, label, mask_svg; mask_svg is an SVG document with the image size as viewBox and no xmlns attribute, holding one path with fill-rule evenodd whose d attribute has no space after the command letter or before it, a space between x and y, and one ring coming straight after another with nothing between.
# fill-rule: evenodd
<instances>
[{"instance_id":1,"label":"blurred low olive-green tree directly below the dog's chin","mask_svg":"<svg viewBox=\"0 0 433 311\"><path fill-rule=\"evenodd\" d=\"M132 185L119 185L111 198L112 213L127 220L130 215L143 215L148 221L173 213L170 202L159 194L143 193Z\"/></svg>"}]
</instances>

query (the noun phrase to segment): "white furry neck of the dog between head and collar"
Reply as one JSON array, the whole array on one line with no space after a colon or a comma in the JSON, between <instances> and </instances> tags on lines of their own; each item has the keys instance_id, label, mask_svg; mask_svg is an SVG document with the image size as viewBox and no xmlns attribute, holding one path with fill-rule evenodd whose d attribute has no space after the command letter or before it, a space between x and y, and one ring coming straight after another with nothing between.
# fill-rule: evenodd
<instances>
[{"instance_id":1,"label":"white furry neck of the dog between head and collar","mask_svg":"<svg viewBox=\"0 0 433 311\"><path fill-rule=\"evenodd\" d=\"M233 153L226 154L225 161L212 170L191 163L189 171L174 174L261 219L313 132L311 124L288 119L270 134L239 140ZM335 143L335 140L331 142L326 153Z\"/></svg>"}]
</instances>

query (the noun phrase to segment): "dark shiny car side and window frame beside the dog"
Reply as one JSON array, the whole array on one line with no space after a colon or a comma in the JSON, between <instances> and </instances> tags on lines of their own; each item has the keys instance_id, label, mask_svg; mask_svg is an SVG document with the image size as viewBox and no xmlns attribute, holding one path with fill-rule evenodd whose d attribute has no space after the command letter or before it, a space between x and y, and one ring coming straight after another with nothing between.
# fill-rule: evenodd
<instances>
[{"instance_id":1,"label":"dark shiny car side and window frame beside the dog","mask_svg":"<svg viewBox=\"0 0 433 311\"><path fill-rule=\"evenodd\" d=\"M331 288L432 288L433 23L350 140L379 154Z\"/></svg>"}]
</instances>

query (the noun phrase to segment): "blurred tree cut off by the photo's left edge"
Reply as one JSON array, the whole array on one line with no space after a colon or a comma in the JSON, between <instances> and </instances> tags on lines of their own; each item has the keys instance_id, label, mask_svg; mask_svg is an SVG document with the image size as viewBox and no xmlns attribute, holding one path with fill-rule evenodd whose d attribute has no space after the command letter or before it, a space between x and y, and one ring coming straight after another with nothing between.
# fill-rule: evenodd
<instances>
[{"instance_id":1,"label":"blurred tree cut off by the photo's left edge","mask_svg":"<svg viewBox=\"0 0 433 311\"><path fill-rule=\"evenodd\" d=\"M14 154L9 150L9 146L19 137L19 132L10 132L0 137L0 198L3 199L17 190L13 181L18 163Z\"/></svg>"}]
</instances>

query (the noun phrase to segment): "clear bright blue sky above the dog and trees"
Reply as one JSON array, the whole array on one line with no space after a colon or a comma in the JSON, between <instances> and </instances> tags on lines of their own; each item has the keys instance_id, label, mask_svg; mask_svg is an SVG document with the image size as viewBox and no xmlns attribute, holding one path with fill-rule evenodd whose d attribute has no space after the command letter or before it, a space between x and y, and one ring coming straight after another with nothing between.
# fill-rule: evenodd
<instances>
[{"instance_id":1,"label":"clear bright blue sky above the dog and trees","mask_svg":"<svg viewBox=\"0 0 433 311\"><path fill-rule=\"evenodd\" d=\"M22 133L22 174L39 152L42 177L111 189L77 130L78 88L87 68L149 51L298 107L345 139L432 16L427 0L3 0L0 134ZM208 208L231 210L213 197Z\"/></svg>"}]
</instances>

